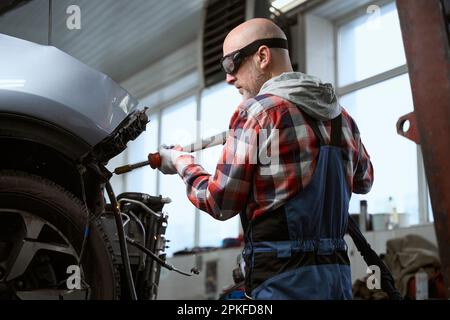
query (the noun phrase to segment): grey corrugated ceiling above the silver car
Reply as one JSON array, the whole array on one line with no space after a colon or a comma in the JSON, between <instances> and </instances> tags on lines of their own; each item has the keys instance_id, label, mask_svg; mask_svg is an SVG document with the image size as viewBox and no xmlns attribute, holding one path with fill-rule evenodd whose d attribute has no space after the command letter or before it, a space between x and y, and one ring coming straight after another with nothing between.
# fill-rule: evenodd
<instances>
[{"instance_id":1,"label":"grey corrugated ceiling above the silver car","mask_svg":"<svg viewBox=\"0 0 450 320\"><path fill-rule=\"evenodd\" d=\"M0 32L46 43L47 4L48 0L34 0L0 17ZM81 9L81 30L66 27L66 9L73 4ZM204 0L53 0L52 43L121 82L195 39L202 27L203 4ZM42 29L39 36L33 35L37 24Z\"/></svg>"}]
</instances>

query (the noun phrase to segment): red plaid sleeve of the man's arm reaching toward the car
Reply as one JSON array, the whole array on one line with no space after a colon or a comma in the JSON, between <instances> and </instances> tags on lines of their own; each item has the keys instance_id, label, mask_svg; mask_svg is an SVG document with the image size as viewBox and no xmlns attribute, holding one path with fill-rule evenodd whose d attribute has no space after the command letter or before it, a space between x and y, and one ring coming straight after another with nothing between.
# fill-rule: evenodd
<instances>
[{"instance_id":1,"label":"red plaid sleeve of the man's arm reaching toward the car","mask_svg":"<svg viewBox=\"0 0 450 320\"><path fill-rule=\"evenodd\" d=\"M235 216L248 202L255 168L251 155L255 152L256 127L257 122L247 120L238 109L214 175L197 164L187 166L182 173L189 200L215 219Z\"/></svg>"}]
</instances>

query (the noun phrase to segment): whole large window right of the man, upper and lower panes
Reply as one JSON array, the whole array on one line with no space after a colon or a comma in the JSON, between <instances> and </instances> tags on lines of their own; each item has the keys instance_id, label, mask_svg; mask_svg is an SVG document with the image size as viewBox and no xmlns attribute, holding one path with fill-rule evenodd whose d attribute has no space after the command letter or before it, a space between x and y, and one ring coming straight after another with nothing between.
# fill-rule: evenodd
<instances>
[{"instance_id":1,"label":"whole large window right of the man, upper and lower panes","mask_svg":"<svg viewBox=\"0 0 450 320\"><path fill-rule=\"evenodd\" d=\"M370 213L389 213L391 197L410 224L419 219L418 147L396 132L398 118L413 111L411 87L394 2L377 7L376 16L337 21L337 92L356 120L374 166L367 195L352 195L350 213L367 200ZM426 215L425 215L426 216Z\"/></svg>"}]
</instances>

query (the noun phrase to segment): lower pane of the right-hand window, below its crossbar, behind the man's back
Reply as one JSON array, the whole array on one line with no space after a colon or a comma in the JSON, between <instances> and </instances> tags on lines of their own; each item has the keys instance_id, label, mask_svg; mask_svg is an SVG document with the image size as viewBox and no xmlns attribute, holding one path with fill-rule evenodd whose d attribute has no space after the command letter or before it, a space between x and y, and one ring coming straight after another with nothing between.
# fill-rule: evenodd
<instances>
[{"instance_id":1,"label":"lower pane of the right-hand window, below its crossbar, behind the man's back","mask_svg":"<svg viewBox=\"0 0 450 320\"><path fill-rule=\"evenodd\" d=\"M375 180L367 195L352 195L350 212L359 212L365 199L371 213L390 212L393 197L398 212L418 223L417 147L399 136L398 118L412 111L408 75L354 91L341 97L341 104L355 119L362 141L371 156Z\"/></svg>"}]
</instances>

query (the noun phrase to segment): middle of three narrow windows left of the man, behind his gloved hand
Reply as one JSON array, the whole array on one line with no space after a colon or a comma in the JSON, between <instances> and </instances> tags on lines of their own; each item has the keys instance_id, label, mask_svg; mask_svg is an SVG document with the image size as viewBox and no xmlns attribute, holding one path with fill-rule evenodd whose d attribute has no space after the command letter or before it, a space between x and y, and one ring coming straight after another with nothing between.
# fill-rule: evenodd
<instances>
[{"instance_id":1,"label":"middle of three narrow windows left of the man, behind his gloved hand","mask_svg":"<svg viewBox=\"0 0 450 320\"><path fill-rule=\"evenodd\" d=\"M195 141L196 133L195 97L190 97L161 111L161 144L186 145ZM164 209L169 213L167 239L170 248L168 255L176 251L192 248L195 233L195 207L186 196L186 186L178 175L159 174L158 192L164 197L170 197L172 203Z\"/></svg>"}]
</instances>

